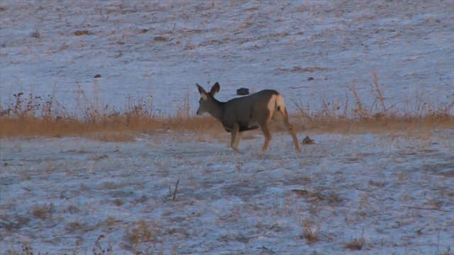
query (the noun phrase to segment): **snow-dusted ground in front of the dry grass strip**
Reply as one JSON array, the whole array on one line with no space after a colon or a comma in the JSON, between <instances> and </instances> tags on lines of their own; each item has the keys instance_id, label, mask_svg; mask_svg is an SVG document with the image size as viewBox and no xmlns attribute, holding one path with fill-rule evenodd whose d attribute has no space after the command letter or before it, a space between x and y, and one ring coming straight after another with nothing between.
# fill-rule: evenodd
<instances>
[{"instance_id":1,"label":"snow-dusted ground in front of the dry grass strip","mask_svg":"<svg viewBox=\"0 0 454 255\"><path fill-rule=\"evenodd\" d=\"M301 153L277 133L263 155L253 137L243 154L227 133L1 140L2 254L355 254L361 237L361 254L452 252L452 130L311 135Z\"/></svg>"}]
</instances>

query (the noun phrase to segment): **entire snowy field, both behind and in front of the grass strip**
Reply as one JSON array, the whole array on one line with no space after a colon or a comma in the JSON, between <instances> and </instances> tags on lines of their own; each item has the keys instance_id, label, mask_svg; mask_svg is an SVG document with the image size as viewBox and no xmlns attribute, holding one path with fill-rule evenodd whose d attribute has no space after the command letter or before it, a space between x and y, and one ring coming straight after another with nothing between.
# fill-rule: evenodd
<instances>
[{"instance_id":1,"label":"entire snowy field, both behind and in front of the grass strip","mask_svg":"<svg viewBox=\"0 0 454 255\"><path fill-rule=\"evenodd\" d=\"M454 101L453 13L449 0L2 0L0 106L23 92L68 112L87 96L174 114L189 96L195 112L194 84L215 81L221 101L276 89L290 113L344 103L349 86L371 106L375 70L387 106L416 112ZM453 130L298 135L316 145L2 138L0 254L453 254Z\"/></svg>"}]
</instances>

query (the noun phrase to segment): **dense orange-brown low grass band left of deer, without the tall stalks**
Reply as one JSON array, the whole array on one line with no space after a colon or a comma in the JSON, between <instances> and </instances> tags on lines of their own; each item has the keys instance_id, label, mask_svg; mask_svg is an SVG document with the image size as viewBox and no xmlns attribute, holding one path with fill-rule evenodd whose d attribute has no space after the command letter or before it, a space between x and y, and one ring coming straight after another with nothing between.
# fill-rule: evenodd
<instances>
[{"instance_id":1,"label":"dense orange-brown low grass band left of deer, without the tall stalks","mask_svg":"<svg viewBox=\"0 0 454 255\"><path fill-rule=\"evenodd\" d=\"M0 117L0 137L19 136L89 136L104 142L133 140L133 134L164 132L166 130L210 130L216 127L216 120L180 117L131 117L128 113L117 116L101 116L96 122L78 118L42 118L36 116ZM221 130L221 125L218 125Z\"/></svg>"}]
</instances>

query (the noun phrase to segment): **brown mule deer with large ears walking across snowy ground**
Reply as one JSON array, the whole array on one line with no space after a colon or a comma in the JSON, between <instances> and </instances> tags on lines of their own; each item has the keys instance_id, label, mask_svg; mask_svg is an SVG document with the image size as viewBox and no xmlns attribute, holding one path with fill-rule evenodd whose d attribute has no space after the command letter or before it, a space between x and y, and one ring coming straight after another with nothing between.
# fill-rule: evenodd
<instances>
[{"instance_id":1,"label":"brown mule deer with large ears walking across snowy ground","mask_svg":"<svg viewBox=\"0 0 454 255\"><path fill-rule=\"evenodd\" d=\"M262 153L265 153L270 145L271 132L269 124L271 120L277 120L279 125L287 128L295 145L295 149L301 152L298 137L294 132L293 125L289 123L289 116L284 104L284 97L272 89L265 89L248 96L233 98L226 102L218 101L214 96L221 86L216 82L209 92L196 84L199 90L199 108L196 114L209 113L216 118L223 128L231 133L230 147L234 152L240 153L238 145L240 133L248 130L261 128L265 136Z\"/></svg>"}]
</instances>

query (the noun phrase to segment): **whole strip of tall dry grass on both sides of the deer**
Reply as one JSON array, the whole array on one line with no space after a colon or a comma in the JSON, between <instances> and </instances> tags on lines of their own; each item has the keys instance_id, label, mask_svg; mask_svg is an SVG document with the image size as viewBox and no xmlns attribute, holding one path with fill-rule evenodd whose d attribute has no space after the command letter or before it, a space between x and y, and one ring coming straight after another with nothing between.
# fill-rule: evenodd
<instances>
[{"instance_id":1,"label":"whole strip of tall dry grass on both sides of the deer","mask_svg":"<svg viewBox=\"0 0 454 255\"><path fill-rule=\"evenodd\" d=\"M290 116L298 131L309 132L394 132L424 128L454 129L454 102L433 105L416 98L408 101L387 102L380 88L377 73L372 72L372 94L375 101L365 106L355 86L349 88L351 96L344 103L321 100L320 109L311 109L295 102L297 113ZM222 126L208 115L196 117L190 111L189 92L184 96L176 115L153 113L150 98L128 100L123 110L100 103L94 84L90 100L79 89L76 110L70 112L55 96L46 98L18 93L8 106L0 106L0 137L30 136L87 136L105 141L128 141L138 133L167 130L223 132ZM352 100L353 99L353 100ZM353 101L353 103L350 103Z\"/></svg>"}]
</instances>

